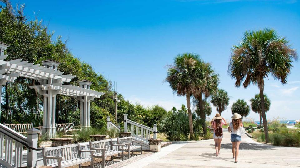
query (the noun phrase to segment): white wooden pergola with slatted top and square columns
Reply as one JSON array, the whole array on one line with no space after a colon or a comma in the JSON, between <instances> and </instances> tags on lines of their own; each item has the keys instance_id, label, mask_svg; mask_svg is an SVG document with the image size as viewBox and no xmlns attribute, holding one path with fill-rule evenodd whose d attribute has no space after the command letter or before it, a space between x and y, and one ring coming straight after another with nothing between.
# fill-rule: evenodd
<instances>
[{"instance_id":1,"label":"white wooden pergola with slatted top and square columns","mask_svg":"<svg viewBox=\"0 0 300 168\"><path fill-rule=\"evenodd\" d=\"M8 55L4 55L7 47L9 47L7 44L0 42L0 89L6 82L14 82L17 77L34 79L39 82L39 85L33 85L30 88L35 89L44 97L43 134L47 134L48 138L56 135L55 103L57 94L73 96L76 100L80 100L80 124L83 127L90 126L90 100L99 98L105 93L91 90L92 82L88 80L78 81L80 86L63 85L64 82L69 83L75 76L63 75L64 72L57 70L60 63L54 60L43 61L43 66L21 59L4 61L8 57Z\"/></svg>"}]
</instances>

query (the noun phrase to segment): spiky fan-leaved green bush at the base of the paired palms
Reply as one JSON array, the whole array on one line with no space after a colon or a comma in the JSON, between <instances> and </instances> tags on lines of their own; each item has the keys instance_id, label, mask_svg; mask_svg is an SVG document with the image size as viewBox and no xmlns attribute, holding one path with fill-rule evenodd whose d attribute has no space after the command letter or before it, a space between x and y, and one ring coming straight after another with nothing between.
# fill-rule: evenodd
<instances>
[{"instance_id":1,"label":"spiky fan-leaved green bush at the base of the paired palms","mask_svg":"<svg viewBox=\"0 0 300 168\"><path fill-rule=\"evenodd\" d=\"M202 136L202 123L204 122L196 113L192 113L193 131L196 140ZM188 140L189 122L188 114L184 111L174 111L168 113L158 123L158 131L165 134L169 140Z\"/></svg>"}]
</instances>

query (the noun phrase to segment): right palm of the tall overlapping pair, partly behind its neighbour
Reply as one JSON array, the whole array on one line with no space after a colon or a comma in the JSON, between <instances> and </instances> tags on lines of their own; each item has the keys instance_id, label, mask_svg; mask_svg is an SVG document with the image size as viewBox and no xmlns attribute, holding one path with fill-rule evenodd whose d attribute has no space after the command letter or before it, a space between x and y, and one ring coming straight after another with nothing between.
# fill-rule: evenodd
<instances>
[{"instance_id":1,"label":"right palm of the tall overlapping pair, partly behind its neighbour","mask_svg":"<svg viewBox=\"0 0 300 168\"><path fill-rule=\"evenodd\" d=\"M215 71L212 69L212 66L209 63L205 63L203 66L203 70L205 71L205 78L202 81L203 85L199 85L197 87L197 91L194 94L195 98L198 100L198 107L199 107L199 113L201 119L204 120L202 128L203 128L203 134L204 136L207 134L206 130L206 115L204 112L203 108L203 98L202 96L204 95L204 98L208 98L212 94L214 94L217 89L218 89L218 84L219 84L219 74L216 74Z\"/></svg>"}]
</instances>

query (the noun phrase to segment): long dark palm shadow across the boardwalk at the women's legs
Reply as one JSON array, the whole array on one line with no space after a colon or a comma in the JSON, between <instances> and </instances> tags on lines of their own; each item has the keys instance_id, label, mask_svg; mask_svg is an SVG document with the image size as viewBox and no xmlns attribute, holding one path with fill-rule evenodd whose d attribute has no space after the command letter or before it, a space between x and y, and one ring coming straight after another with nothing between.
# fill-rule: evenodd
<instances>
[{"instance_id":1,"label":"long dark palm shadow across the boardwalk at the women's legs","mask_svg":"<svg viewBox=\"0 0 300 168\"><path fill-rule=\"evenodd\" d=\"M214 144L211 144L210 146L215 146ZM221 143L221 149L232 149L232 143ZM261 143L246 143L242 142L240 144L240 150L275 150L275 148L278 148L277 146L272 145L266 145Z\"/></svg>"}]
</instances>

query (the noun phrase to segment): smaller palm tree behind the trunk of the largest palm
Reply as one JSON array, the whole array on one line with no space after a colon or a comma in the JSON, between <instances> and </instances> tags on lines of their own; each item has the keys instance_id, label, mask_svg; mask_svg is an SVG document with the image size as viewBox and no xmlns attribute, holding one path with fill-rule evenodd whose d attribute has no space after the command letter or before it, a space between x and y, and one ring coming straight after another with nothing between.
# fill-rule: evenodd
<instances>
[{"instance_id":1,"label":"smaller palm tree behind the trunk of the largest palm","mask_svg":"<svg viewBox=\"0 0 300 168\"><path fill-rule=\"evenodd\" d=\"M265 101L265 112L270 110L270 106L271 106L271 100L269 99L269 97L264 94L264 101ZM255 94L254 98L250 99L251 102L251 109L252 111L254 111L255 113L259 113L259 125L262 125L262 106L260 105L260 95L259 94Z\"/></svg>"}]
</instances>

